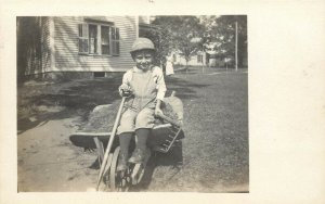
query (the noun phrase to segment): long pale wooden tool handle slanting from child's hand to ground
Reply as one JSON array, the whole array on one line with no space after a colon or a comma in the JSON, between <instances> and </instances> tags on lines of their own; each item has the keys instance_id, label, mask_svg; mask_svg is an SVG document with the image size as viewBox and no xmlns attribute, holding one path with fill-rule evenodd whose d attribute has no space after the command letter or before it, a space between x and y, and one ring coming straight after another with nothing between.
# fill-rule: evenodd
<instances>
[{"instance_id":1,"label":"long pale wooden tool handle slanting from child's hand to ground","mask_svg":"<svg viewBox=\"0 0 325 204\"><path fill-rule=\"evenodd\" d=\"M119 125L119 120L120 120L120 117L121 117L121 113L122 113L125 102L126 102L126 97L122 98L122 100L120 102L120 105L119 105L119 109L118 109L118 112L117 112L117 115L116 115L116 119L115 119L115 123L114 123L114 126L113 126L113 129L112 129L112 133L110 133L108 144L107 144L107 148L106 148L106 151L105 151L105 154L104 154L104 158L103 158L103 162L102 162L102 165L101 165L101 170L100 170L100 175L99 175L99 179L98 179L96 191L99 191L100 183L103 179L104 169L105 169L105 166L106 166L106 163L107 163L107 160L108 160L108 154L109 154L110 149L112 149L112 144L113 144L116 131L117 131L117 127Z\"/></svg>"}]
</instances>

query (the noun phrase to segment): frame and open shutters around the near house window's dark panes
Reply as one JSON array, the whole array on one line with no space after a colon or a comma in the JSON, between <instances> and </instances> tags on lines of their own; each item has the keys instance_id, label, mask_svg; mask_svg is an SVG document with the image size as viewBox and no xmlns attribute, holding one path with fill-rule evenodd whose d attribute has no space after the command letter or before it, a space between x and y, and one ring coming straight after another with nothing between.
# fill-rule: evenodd
<instances>
[{"instance_id":1,"label":"frame and open shutters around the near house window's dark panes","mask_svg":"<svg viewBox=\"0 0 325 204\"><path fill-rule=\"evenodd\" d=\"M81 26L81 36L80 36L80 26ZM83 27L86 26L86 27ZM95 51L94 53L90 53L91 51L91 44L90 44L90 26L96 26L96 37L95 37ZM108 28L108 42L103 43L103 35L102 35L102 28L107 27ZM87 35L84 36L83 33ZM114 36L113 36L114 30ZM99 56L119 56L120 55L120 29L118 27L115 27L114 25L107 25L104 23L94 23L94 22L86 22L78 24L78 54L79 55L99 55ZM88 51L81 50L80 43L84 43L84 40L88 39L87 49ZM82 42L83 40L83 42ZM103 46L108 47L109 53L103 53ZM83 47L84 48L84 44Z\"/></svg>"}]
</instances>

